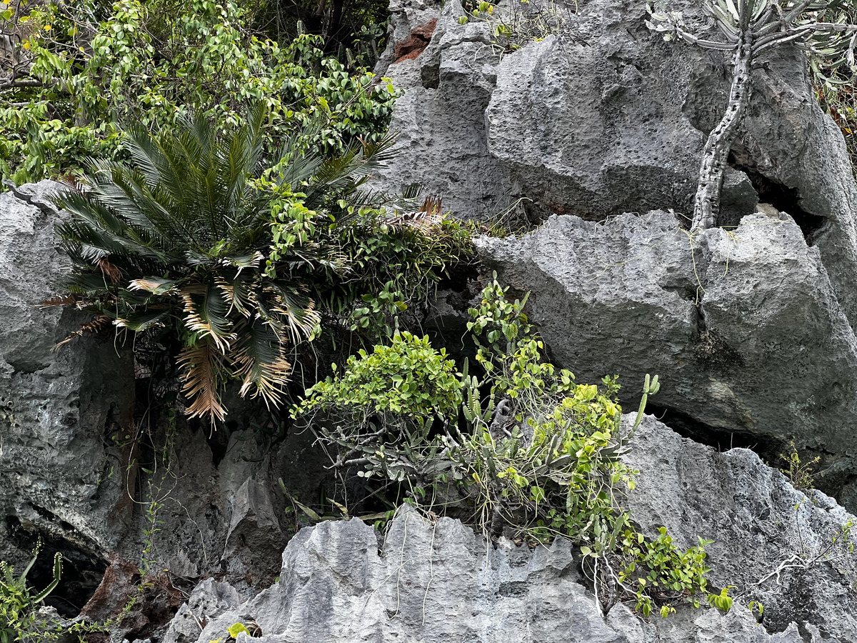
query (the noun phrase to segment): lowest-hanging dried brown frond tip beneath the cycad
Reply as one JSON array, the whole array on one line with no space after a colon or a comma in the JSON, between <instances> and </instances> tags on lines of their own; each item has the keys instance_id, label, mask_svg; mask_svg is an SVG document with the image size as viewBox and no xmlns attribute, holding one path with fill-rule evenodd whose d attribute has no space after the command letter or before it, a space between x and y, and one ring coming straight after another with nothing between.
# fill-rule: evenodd
<instances>
[{"instance_id":1,"label":"lowest-hanging dried brown frond tip beneath the cycad","mask_svg":"<svg viewBox=\"0 0 857 643\"><path fill-rule=\"evenodd\" d=\"M211 424L226 417L220 404L219 388L223 379L223 353L207 341L185 348L178 356L184 370L182 391L191 400L185 410L189 418L207 417Z\"/></svg>"}]
</instances>

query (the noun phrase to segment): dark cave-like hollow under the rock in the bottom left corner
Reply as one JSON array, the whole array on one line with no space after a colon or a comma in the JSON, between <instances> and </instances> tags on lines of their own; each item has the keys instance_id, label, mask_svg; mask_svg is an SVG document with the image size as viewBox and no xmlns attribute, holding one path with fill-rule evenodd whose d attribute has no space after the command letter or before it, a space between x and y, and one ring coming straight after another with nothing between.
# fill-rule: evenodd
<instances>
[{"instance_id":1,"label":"dark cave-like hollow under the rock in the bottom left corner","mask_svg":"<svg viewBox=\"0 0 857 643\"><path fill-rule=\"evenodd\" d=\"M47 509L31 506L38 514L56 521L63 528L73 529L67 523L57 520L57 517ZM21 525L21 520L17 516L6 516L3 522L9 541L21 551L27 553L32 551L38 539L42 540L39 557L27 574L27 586L33 587L37 592L50 585L53 580L54 555L57 552L63 555L63 574L57 589L45 598L45 605L56 608L57 612L66 618L77 616L101 583L107 562L95 552L72 543L66 538L27 529ZM21 574L27 562L24 562L20 569L15 566L15 574Z\"/></svg>"}]
</instances>

